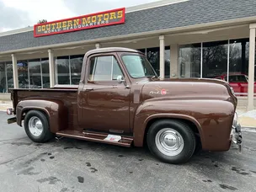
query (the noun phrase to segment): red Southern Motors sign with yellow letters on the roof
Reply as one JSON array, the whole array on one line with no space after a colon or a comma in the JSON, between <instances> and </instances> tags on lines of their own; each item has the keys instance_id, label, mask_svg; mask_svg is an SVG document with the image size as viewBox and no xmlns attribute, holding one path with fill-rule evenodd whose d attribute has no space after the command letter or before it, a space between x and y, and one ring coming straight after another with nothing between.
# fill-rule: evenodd
<instances>
[{"instance_id":1,"label":"red Southern Motors sign with yellow letters on the roof","mask_svg":"<svg viewBox=\"0 0 256 192\"><path fill-rule=\"evenodd\" d=\"M34 36L62 34L83 29L92 29L113 24L125 23L125 8L83 15L71 19L34 25Z\"/></svg>"}]
</instances>

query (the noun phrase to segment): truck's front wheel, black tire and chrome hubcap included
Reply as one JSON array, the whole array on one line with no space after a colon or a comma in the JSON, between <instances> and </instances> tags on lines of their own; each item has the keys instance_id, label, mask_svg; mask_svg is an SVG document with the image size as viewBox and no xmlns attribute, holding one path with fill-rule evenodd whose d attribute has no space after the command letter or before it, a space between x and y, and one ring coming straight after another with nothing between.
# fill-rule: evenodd
<instances>
[{"instance_id":1,"label":"truck's front wheel, black tire and chrome hubcap included","mask_svg":"<svg viewBox=\"0 0 256 192\"><path fill-rule=\"evenodd\" d=\"M195 134L179 120L157 120L147 132L147 146L166 163L186 163L195 151Z\"/></svg>"}]
</instances>

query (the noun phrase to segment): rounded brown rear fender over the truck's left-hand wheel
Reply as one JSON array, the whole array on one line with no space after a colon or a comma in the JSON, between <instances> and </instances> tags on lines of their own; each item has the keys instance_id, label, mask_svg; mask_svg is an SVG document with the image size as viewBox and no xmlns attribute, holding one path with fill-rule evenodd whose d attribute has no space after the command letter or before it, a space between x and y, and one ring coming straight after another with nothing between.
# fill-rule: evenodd
<instances>
[{"instance_id":1,"label":"rounded brown rear fender over the truck's left-hand wheel","mask_svg":"<svg viewBox=\"0 0 256 192\"><path fill-rule=\"evenodd\" d=\"M24 120L24 113L29 110L44 112L48 117L50 130L53 133L67 128L67 107L60 100L27 99L20 101L16 107L17 124L19 126L22 125L22 120Z\"/></svg>"}]
</instances>

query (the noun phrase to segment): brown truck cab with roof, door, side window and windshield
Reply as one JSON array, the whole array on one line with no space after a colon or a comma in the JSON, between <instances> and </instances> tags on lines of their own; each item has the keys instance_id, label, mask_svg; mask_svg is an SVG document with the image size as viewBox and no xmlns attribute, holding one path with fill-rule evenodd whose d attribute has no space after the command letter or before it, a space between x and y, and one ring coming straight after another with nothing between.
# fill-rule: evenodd
<instances>
[{"instance_id":1,"label":"brown truck cab with roof, door, side window and windshield","mask_svg":"<svg viewBox=\"0 0 256 192\"><path fill-rule=\"evenodd\" d=\"M156 72L139 51L109 49L104 54L101 51L90 54L89 51L85 57L77 94L79 125L92 130L131 134L133 110L139 104L131 103L132 95L135 88L139 93L142 88L141 84L137 87L136 82L157 78Z\"/></svg>"}]
</instances>

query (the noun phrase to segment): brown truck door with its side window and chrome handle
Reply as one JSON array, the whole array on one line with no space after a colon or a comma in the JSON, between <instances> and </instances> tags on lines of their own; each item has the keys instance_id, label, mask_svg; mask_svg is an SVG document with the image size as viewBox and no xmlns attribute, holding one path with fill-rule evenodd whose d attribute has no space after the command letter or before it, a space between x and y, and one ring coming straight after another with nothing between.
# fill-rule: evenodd
<instances>
[{"instance_id":1,"label":"brown truck door with its side window and chrome handle","mask_svg":"<svg viewBox=\"0 0 256 192\"><path fill-rule=\"evenodd\" d=\"M118 83L125 77L116 55L88 57L85 83L79 85L78 123L83 129L129 133L130 88ZM81 86L83 88L81 88Z\"/></svg>"}]
</instances>

